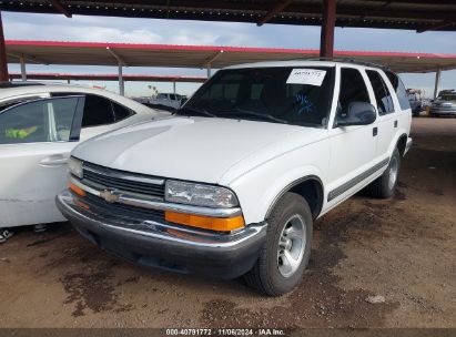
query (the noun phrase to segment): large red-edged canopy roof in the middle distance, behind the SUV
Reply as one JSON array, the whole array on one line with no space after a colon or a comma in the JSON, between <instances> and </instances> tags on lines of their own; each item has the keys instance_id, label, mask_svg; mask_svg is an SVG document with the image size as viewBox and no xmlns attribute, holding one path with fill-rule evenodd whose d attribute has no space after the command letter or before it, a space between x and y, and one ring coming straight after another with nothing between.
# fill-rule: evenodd
<instances>
[{"instance_id":1,"label":"large red-edged canopy roof in the middle distance, behind the SUV","mask_svg":"<svg viewBox=\"0 0 456 337\"><path fill-rule=\"evenodd\" d=\"M7 41L8 62L219 69L274 60L318 58L318 50L239 47L125 44L54 41ZM115 57L114 57L115 55ZM335 57L381 63L396 72L456 69L456 54L335 51Z\"/></svg>"}]
</instances>

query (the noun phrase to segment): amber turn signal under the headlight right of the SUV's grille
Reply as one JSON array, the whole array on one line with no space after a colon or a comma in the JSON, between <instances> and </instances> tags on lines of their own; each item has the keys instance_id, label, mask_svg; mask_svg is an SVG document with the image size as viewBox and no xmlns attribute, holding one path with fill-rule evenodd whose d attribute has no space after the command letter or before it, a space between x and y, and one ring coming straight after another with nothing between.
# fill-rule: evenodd
<instances>
[{"instance_id":1,"label":"amber turn signal under the headlight right of the SUV's grille","mask_svg":"<svg viewBox=\"0 0 456 337\"><path fill-rule=\"evenodd\" d=\"M245 225L242 215L235 217L211 217L168 211L164 213L164 218L170 223L220 232L231 232Z\"/></svg>"}]
</instances>

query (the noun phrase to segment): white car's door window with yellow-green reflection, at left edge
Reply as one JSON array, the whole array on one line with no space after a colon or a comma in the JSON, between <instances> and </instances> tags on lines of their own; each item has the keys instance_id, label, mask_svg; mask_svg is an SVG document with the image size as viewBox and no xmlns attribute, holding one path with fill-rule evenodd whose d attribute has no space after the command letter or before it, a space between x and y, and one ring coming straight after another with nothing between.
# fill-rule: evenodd
<instances>
[{"instance_id":1,"label":"white car's door window with yellow-green reflection, at left edge","mask_svg":"<svg viewBox=\"0 0 456 337\"><path fill-rule=\"evenodd\" d=\"M70 140L78 98L43 99L0 112L0 144Z\"/></svg>"}]
</instances>

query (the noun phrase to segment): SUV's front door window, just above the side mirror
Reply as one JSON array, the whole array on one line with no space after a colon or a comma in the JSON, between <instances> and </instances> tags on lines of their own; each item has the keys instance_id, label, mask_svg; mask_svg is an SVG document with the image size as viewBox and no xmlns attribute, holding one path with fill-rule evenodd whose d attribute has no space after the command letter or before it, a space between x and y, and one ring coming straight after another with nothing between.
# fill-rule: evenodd
<instances>
[{"instance_id":1,"label":"SUV's front door window, just above the side mirror","mask_svg":"<svg viewBox=\"0 0 456 337\"><path fill-rule=\"evenodd\" d=\"M357 69L342 68L337 113L346 114L349 103L353 102L371 103L366 83Z\"/></svg>"}]
</instances>

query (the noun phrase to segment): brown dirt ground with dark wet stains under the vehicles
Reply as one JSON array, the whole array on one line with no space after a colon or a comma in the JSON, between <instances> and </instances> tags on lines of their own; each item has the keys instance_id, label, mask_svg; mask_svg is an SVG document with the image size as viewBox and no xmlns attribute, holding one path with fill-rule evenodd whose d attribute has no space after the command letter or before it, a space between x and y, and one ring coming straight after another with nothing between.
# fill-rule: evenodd
<instances>
[{"instance_id":1,"label":"brown dirt ground with dark wet stains under the vehicles","mask_svg":"<svg viewBox=\"0 0 456 337\"><path fill-rule=\"evenodd\" d=\"M456 120L414 119L413 137L392 200L316 222L286 296L136 267L63 223L0 245L0 327L456 327Z\"/></svg>"}]
</instances>

